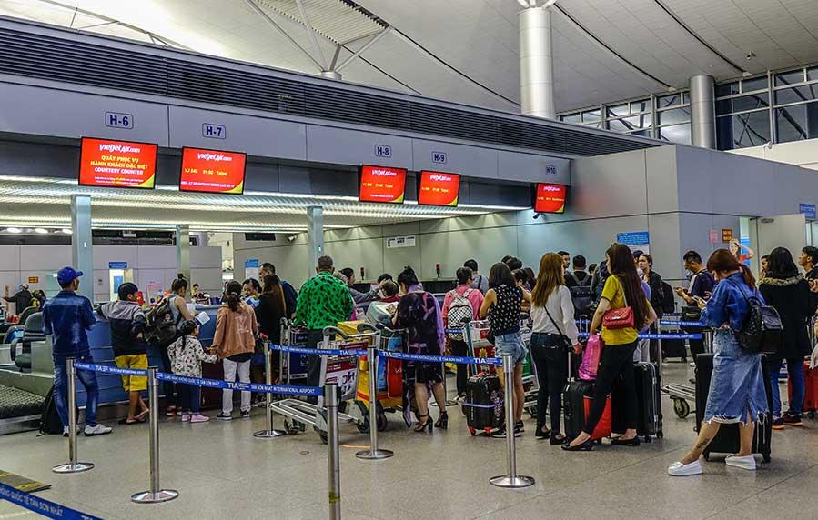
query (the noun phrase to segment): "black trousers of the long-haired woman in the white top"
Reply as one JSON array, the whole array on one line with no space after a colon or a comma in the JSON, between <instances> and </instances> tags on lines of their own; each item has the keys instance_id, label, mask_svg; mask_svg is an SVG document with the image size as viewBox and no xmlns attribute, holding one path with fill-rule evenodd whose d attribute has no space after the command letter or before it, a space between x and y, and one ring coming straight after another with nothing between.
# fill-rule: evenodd
<instances>
[{"instance_id":1,"label":"black trousers of the long-haired woman in the white top","mask_svg":"<svg viewBox=\"0 0 818 520\"><path fill-rule=\"evenodd\" d=\"M531 336L531 360L537 367L537 427L545 425L545 409L549 407L551 435L560 432L562 389L568 381L568 351L557 346L558 335L535 333Z\"/></svg>"}]
</instances>

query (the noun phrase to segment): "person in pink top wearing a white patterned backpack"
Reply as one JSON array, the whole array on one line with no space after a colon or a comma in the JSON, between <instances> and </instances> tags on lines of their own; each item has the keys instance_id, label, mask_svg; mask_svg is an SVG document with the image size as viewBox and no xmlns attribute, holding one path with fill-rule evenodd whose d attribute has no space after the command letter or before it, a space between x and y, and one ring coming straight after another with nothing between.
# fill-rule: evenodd
<instances>
[{"instance_id":1,"label":"person in pink top wearing a white patterned backpack","mask_svg":"<svg viewBox=\"0 0 818 520\"><path fill-rule=\"evenodd\" d=\"M473 260L472 260L473 262ZM476 264L476 263L475 263ZM483 294L474 288L474 275L469 267L460 267L457 271L458 285L446 293L443 298L443 326L446 328L446 340L452 355L469 355L466 345L465 328L472 320L480 319L480 305L483 305ZM458 365L458 400L466 398L466 383L469 380L469 365Z\"/></svg>"}]
</instances>

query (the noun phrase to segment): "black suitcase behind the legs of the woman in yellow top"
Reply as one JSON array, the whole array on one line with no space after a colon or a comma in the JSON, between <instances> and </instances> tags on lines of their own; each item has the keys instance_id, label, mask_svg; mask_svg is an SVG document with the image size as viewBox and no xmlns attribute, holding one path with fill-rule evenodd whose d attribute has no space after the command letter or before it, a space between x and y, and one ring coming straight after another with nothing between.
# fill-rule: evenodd
<instances>
[{"instance_id":1,"label":"black suitcase behind the legs of the woman in yellow top","mask_svg":"<svg viewBox=\"0 0 818 520\"><path fill-rule=\"evenodd\" d=\"M661 429L661 377L655 363L635 363L633 372L637 403L636 433L650 443L653 435L659 439L664 436ZM615 434L624 434L627 429L624 398L624 382L620 378L611 392L611 430Z\"/></svg>"}]
</instances>

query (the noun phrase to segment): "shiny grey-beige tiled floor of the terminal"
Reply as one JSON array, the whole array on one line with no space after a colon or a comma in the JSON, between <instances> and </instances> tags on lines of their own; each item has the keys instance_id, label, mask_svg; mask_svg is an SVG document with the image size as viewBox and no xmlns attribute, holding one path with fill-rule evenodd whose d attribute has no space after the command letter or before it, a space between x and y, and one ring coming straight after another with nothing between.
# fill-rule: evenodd
<instances>
[{"instance_id":1,"label":"shiny grey-beige tiled floor of the terminal","mask_svg":"<svg viewBox=\"0 0 818 520\"><path fill-rule=\"evenodd\" d=\"M665 365L665 380L684 382L687 365ZM451 380L453 384L454 381ZM785 394L784 394L785 395ZM519 439L518 465L536 485L522 490L491 486L505 471L505 441L472 438L459 408L448 431L407 431L398 415L380 435L395 451L387 460L365 462L355 452L368 443L350 425L341 435L341 495L344 518L732 518L818 517L818 420L775 432L773 462L756 473L705 464L701 476L672 478L667 466L694 436L694 418L677 419L664 403L665 438L638 448L603 445L569 454ZM147 427L119 426L113 435L79 439L81 460L96 468L56 475L66 457L62 437L35 434L0 437L0 468L51 483L38 495L103 518L326 518L327 449L309 433L255 439L263 413L250 420L204 425L166 422L161 430L162 485L180 491L166 504L136 505L130 495L147 487ZM215 414L214 414L215 415ZM280 419L277 419L280 424ZM19 512L19 515L18 515ZM25 517L0 505L0 518Z\"/></svg>"}]
</instances>

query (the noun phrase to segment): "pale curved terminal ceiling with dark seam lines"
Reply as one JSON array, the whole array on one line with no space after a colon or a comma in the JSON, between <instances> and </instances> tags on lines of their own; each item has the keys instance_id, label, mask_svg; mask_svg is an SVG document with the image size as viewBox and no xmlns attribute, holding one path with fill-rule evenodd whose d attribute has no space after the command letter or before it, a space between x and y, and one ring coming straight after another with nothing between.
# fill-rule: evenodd
<instances>
[{"instance_id":1,"label":"pale curved terminal ceiling with dark seam lines","mask_svg":"<svg viewBox=\"0 0 818 520\"><path fill-rule=\"evenodd\" d=\"M310 74L368 45L344 80L511 112L519 10L515 0L0 0L0 15ZM691 75L818 62L813 0L559 0L553 25L558 111L683 88Z\"/></svg>"}]
</instances>

